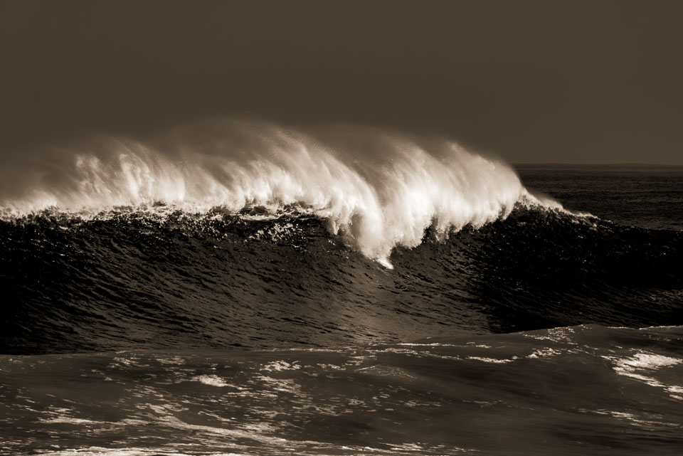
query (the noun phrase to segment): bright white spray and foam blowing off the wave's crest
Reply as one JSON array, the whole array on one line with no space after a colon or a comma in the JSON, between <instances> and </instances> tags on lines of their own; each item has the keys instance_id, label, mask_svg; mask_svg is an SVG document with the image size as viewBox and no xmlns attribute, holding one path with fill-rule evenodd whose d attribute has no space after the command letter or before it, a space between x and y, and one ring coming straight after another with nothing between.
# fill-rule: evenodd
<instances>
[{"instance_id":1,"label":"bright white spray and foam blowing off the wave's crest","mask_svg":"<svg viewBox=\"0 0 683 456\"><path fill-rule=\"evenodd\" d=\"M518 201L561 208L532 196L501 161L446 139L366 127L300 132L213 120L148 142L97 137L3 160L5 213L297 205L387 265L396 245L415 247L429 226L438 235L482 226Z\"/></svg>"}]
</instances>

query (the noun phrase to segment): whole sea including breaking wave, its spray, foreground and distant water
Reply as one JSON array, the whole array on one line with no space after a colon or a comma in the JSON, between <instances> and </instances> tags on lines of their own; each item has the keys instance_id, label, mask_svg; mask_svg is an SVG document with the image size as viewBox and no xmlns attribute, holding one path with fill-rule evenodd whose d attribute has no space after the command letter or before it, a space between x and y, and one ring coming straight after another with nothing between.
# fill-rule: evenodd
<instances>
[{"instance_id":1,"label":"whole sea including breaking wave, its spray, foreground and distant water","mask_svg":"<svg viewBox=\"0 0 683 456\"><path fill-rule=\"evenodd\" d=\"M683 454L683 166L205 122L1 169L1 455Z\"/></svg>"}]
</instances>

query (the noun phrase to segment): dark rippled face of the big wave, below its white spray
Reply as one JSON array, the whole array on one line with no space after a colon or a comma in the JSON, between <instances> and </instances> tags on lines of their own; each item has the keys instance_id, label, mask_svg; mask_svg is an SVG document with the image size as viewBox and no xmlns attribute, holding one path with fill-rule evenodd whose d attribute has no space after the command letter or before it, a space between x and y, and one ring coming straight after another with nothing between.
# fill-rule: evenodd
<instances>
[{"instance_id":1,"label":"dark rippled face of the big wave, below its white spray","mask_svg":"<svg viewBox=\"0 0 683 456\"><path fill-rule=\"evenodd\" d=\"M396 248L388 270L305 213L44 213L0 223L4 353L339 346L682 324L683 232L518 205Z\"/></svg>"}]
</instances>

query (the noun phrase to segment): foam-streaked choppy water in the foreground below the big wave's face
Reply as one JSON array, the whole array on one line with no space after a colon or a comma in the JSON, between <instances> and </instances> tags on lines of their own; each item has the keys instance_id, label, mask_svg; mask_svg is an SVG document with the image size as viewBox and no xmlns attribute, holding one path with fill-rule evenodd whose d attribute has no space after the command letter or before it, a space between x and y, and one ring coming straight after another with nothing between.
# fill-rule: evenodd
<instances>
[{"instance_id":1,"label":"foam-streaked choppy water in the foreground below the big wave's face","mask_svg":"<svg viewBox=\"0 0 683 456\"><path fill-rule=\"evenodd\" d=\"M683 327L1 356L6 455L676 455Z\"/></svg>"}]
</instances>

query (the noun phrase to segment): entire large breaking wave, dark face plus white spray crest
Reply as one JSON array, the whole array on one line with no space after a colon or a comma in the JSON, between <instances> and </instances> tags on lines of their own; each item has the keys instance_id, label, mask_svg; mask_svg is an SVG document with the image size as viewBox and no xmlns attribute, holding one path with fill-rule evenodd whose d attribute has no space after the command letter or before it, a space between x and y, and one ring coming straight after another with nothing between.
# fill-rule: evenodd
<instances>
[{"instance_id":1,"label":"entire large breaking wave, dark face plus white spray crest","mask_svg":"<svg viewBox=\"0 0 683 456\"><path fill-rule=\"evenodd\" d=\"M3 184L4 352L681 322L680 232L576 216L452 142L214 121L87 144Z\"/></svg>"}]
</instances>

